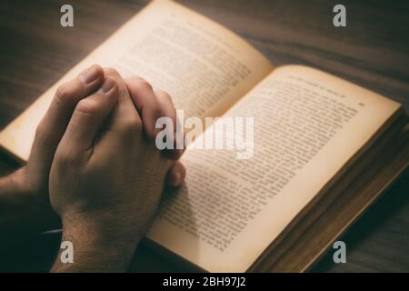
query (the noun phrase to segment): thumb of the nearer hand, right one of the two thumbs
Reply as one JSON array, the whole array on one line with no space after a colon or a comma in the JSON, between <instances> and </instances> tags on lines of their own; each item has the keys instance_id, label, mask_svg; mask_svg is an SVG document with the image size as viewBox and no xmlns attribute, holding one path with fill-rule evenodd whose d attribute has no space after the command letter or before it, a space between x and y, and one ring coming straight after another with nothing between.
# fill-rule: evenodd
<instances>
[{"instance_id":1,"label":"thumb of the nearer hand, right one of the two thumbs","mask_svg":"<svg viewBox=\"0 0 409 291\"><path fill-rule=\"evenodd\" d=\"M95 137L118 98L118 86L112 77L106 77L104 85L94 95L81 100L76 106L60 145L73 155L81 155L92 149Z\"/></svg>"}]
</instances>

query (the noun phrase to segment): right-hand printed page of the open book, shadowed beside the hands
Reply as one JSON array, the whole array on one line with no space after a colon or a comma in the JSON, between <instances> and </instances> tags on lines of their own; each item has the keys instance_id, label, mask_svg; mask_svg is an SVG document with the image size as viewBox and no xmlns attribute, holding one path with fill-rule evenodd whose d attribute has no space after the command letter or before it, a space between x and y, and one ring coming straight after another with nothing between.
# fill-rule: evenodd
<instances>
[{"instance_id":1,"label":"right-hand printed page of the open book, shadowed beside the hands","mask_svg":"<svg viewBox=\"0 0 409 291\"><path fill-rule=\"evenodd\" d=\"M399 107L312 68L278 67L224 115L254 117L254 156L197 149L198 138L185 186L165 196L148 238L211 272L247 270Z\"/></svg>"}]
</instances>

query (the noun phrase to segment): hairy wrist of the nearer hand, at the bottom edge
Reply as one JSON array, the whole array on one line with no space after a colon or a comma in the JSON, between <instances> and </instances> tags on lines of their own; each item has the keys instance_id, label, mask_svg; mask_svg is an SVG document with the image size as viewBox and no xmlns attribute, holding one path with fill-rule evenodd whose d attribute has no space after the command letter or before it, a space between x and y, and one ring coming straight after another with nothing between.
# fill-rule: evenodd
<instances>
[{"instance_id":1,"label":"hairy wrist of the nearer hand, at the bottom edge","mask_svg":"<svg viewBox=\"0 0 409 291\"><path fill-rule=\"evenodd\" d=\"M73 244L73 263L55 259L51 272L125 272L140 241L132 229L93 223L86 219L63 219L63 241ZM79 223L74 223L79 221ZM131 227L132 228L132 227ZM124 230L123 230L124 229Z\"/></svg>"}]
</instances>

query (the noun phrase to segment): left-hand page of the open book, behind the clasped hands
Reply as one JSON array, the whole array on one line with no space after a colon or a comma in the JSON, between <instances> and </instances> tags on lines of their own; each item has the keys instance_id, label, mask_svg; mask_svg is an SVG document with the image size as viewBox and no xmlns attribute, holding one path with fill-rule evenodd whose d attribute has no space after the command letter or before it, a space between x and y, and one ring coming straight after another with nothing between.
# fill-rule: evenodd
<instances>
[{"instance_id":1,"label":"left-hand page of the open book, behind the clasped hands","mask_svg":"<svg viewBox=\"0 0 409 291\"><path fill-rule=\"evenodd\" d=\"M0 134L0 144L26 160L35 127L58 85L99 64L139 75L172 95L185 115L221 115L272 71L243 39L203 15L167 0L147 5L75 65Z\"/></svg>"}]
</instances>

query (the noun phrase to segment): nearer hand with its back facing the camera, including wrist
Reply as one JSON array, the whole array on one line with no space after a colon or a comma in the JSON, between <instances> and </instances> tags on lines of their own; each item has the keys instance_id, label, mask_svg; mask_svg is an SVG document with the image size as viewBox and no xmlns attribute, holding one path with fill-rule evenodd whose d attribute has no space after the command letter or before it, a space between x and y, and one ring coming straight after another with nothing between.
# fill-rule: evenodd
<instances>
[{"instance_id":1,"label":"nearer hand with its back facing the camera, including wrist","mask_svg":"<svg viewBox=\"0 0 409 291\"><path fill-rule=\"evenodd\" d=\"M63 240L74 241L75 254L83 255L72 266L75 271L125 270L172 166L145 138L122 78L112 70L105 75L102 90L75 107L50 173L50 199L62 217ZM155 98L152 93L138 100ZM173 105L166 108L175 111ZM65 267L56 263L54 270Z\"/></svg>"}]
</instances>

